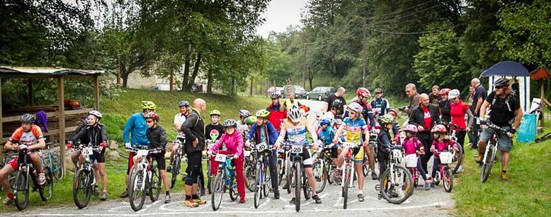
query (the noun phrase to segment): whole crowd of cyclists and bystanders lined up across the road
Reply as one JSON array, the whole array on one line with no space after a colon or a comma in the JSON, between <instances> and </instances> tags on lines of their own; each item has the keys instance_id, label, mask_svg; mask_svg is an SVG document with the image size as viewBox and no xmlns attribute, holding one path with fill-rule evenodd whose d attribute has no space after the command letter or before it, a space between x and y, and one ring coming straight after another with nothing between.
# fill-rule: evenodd
<instances>
[{"instance_id":1,"label":"whole crowd of cyclists and bystanders lined up across the road","mask_svg":"<svg viewBox=\"0 0 551 217\"><path fill-rule=\"evenodd\" d=\"M476 80L473 82L477 84ZM141 112L131 115L124 126L124 142L128 149L147 146L160 150L148 157L151 157L158 165L166 193L165 203L171 201L166 173L173 169L166 167L165 152L171 152L169 165L172 165L175 153L184 153L187 157L184 204L187 207L198 207L207 203L200 198L205 195L205 187L201 188L200 186L204 185L198 185L198 183L205 183L203 176L216 175L216 170L211 169L210 174L205 174L202 171L202 158L204 155L208 155L211 157L211 161L207 161L211 164L210 168L218 168L219 162L214 160L214 156L218 154L232 156L231 162L236 170L239 203L245 203L246 177L243 171L245 152L257 144L267 144L271 150L267 155L267 164L271 177L270 189L274 198L280 198L278 178L281 176L278 174L279 155L277 152L284 146L293 146L293 149L302 147L302 151L295 152L293 150L293 153L302 156L301 163L306 183L311 190L311 198L316 204L320 204L322 201L316 190L315 182L318 178L313 174L312 165L315 159L311 150L318 150L320 147L331 153L331 162L336 168L336 177L342 174L341 165L345 161L346 153L352 152L353 167L356 172L355 179L357 179L357 198L360 202L364 201L362 168L368 165L372 179L383 179L382 175L387 169L388 156L391 155L391 149L396 145L401 145L400 148L406 155L415 154L419 157L416 168L424 179L424 188L429 190L430 187L435 186L432 179L435 177L440 163L438 153L449 148L456 152L459 150L462 152L466 132L476 128L475 125L483 129L477 146L480 153L477 161L481 161L486 142L494 133L491 128L484 127L490 122L506 129L506 132L497 133L499 141L497 148L501 150L502 161L501 179L506 180L508 152L512 148L511 137L516 132L520 122L519 117L522 115L519 100L512 94L508 80L506 78L497 80L495 82L496 91L490 93L484 102L479 102L480 111L475 113L475 115L479 115L479 118L474 118L469 106L461 100L459 90L439 89L439 87L435 87L435 89L439 90L438 93L433 91L434 94L431 95L419 95L414 84L406 86L406 94L412 100L410 106L399 109L407 113L409 117L402 126L397 122L399 112L391 109L388 100L384 99L384 91L380 88L375 89L373 100L371 100L371 92L368 89L358 88L356 90L357 98L349 104L346 104L342 98L344 88L340 88L337 93L334 93L335 96L330 98L327 111L315 114L313 122L306 119L306 116L313 113L309 113L307 106L295 100L291 91L289 98L283 102L280 102L281 96L278 93L270 93L271 104L267 109L256 111L254 115L247 110L240 110L240 119L238 120L228 118L222 122L220 111L213 110L209 113L211 123L207 126L204 125L201 116L207 107L204 100L196 99L193 104L181 101L178 103L179 111L174 116L174 128L177 131L176 140L182 145L174 145L170 150L165 150L168 138L165 129L158 126L159 115L155 113L156 104L151 101L143 101ZM415 100L419 102L415 102ZM490 108L489 118L486 118L486 113ZM94 152L91 159L96 169L94 177L97 182L94 180L94 183L101 182L101 200L105 201L107 199L107 173L105 172L107 135L105 126L100 123L101 118L100 112L90 111L85 126L81 126L77 133L67 141L67 148L75 148L79 144L92 144L100 150ZM477 124L475 124L475 119ZM24 146L26 152L20 153L20 156L28 155L30 157L37 168L38 181L43 184L45 178L37 150L45 148L45 142L41 129L34 124L35 121L34 115L22 115L21 127L15 130L4 145L4 149L23 150ZM448 136L450 130L457 132L455 135L457 141L453 141ZM210 142L214 145L206 146L205 135L211 136ZM373 138L371 135L376 135L376 147L370 145L370 138ZM428 135L428 139L424 138L426 135ZM341 146L345 143L353 143L357 146ZM78 166L83 163L84 155L78 148L74 150L71 158L73 163ZM426 161L430 158L429 154L434 154L432 172L428 172L426 168ZM423 157L427 155L429 157ZM141 157L135 152L129 152L127 185L132 169L142 161ZM375 171L375 159L378 161L378 174ZM14 200L8 176L18 169L17 162L16 158L0 170L0 182L3 190L7 193L3 205L8 205ZM459 166L457 172L461 171L463 169ZM284 189L293 188L291 192L295 191L295 187L298 186L290 185L289 180L283 186ZM98 189L95 184L94 191L98 192ZM128 192L128 189L122 192L121 197L127 197ZM295 194L292 194L289 203L297 203Z\"/></svg>"}]
</instances>

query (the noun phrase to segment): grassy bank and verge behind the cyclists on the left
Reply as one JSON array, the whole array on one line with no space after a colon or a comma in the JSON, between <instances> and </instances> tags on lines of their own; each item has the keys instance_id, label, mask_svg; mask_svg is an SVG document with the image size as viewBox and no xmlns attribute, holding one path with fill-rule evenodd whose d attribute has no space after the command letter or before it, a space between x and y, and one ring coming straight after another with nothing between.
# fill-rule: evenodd
<instances>
[{"instance_id":1,"label":"grassy bank and verge behind the cyclists on the left","mask_svg":"<svg viewBox=\"0 0 551 217\"><path fill-rule=\"evenodd\" d=\"M102 123L105 124L107 128L108 137L120 144L123 140L123 127L129 115L141 110L140 106L142 100L151 100L157 105L156 112L160 115L160 126L163 126L163 128L167 130L169 141L172 141L176 139L176 130L174 129L173 122L174 115L178 113L178 102L180 102L180 100L193 102L196 98L202 98L207 102L207 111L205 114L202 114L205 118L205 124L210 123L208 113L213 109L218 109L222 113L222 119L229 117L238 118L239 109L248 109L251 113L254 113L258 109L266 108L270 103L268 98L262 97L240 97L180 92L170 93L167 91L126 89L116 99L102 98L101 112L104 116ZM121 152L125 153L123 149L121 149ZM116 161L110 161L107 159L107 197L110 200L120 198L121 192L125 190L126 165L127 159L124 158ZM206 171L206 167L206 163L203 163L204 171ZM186 165L182 165L182 168L185 169ZM73 207L72 176L72 172L67 172L67 174L65 174L65 178L61 181L54 182L54 196L48 202L42 202L39 198L38 192L31 192L28 209L60 206ZM170 179L171 174L168 174L167 178ZM171 190L171 193L183 194L182 191L183 182L181 177L178 177L176 186L173 190ZM6 194L2 193L0 195L2 199L6 198ZM161 195L159 199L164 200L164 197ZM99 198L97 196L92 197L90 205L94 205L94 203L99 203ZM3 212L17 212L17 208L14 205L0 205L0 213Z\"/></svg>"}]
</instances>

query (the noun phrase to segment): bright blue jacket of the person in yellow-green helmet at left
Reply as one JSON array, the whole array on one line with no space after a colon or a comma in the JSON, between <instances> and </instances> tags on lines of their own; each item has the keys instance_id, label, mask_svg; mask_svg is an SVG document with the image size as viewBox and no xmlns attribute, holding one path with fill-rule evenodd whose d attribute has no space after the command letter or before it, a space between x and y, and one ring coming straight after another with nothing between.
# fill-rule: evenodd
<instances>
[{"instance_id":1,"label":"bright blue jacket of the person in yellow-green helmet at left","mask_svg":"<svg viewBox=\"0 0 551 217\"><path fill-rule=\"evenodd\" d=\"M132 134L132 142L130 141L130 135ZM149 139L147 138L147 124L145 123L145 117L142 113L135 113L128 118L124 129L125 143L130 142L132 146L149 146Z\"/></svg>"}]
</instances>

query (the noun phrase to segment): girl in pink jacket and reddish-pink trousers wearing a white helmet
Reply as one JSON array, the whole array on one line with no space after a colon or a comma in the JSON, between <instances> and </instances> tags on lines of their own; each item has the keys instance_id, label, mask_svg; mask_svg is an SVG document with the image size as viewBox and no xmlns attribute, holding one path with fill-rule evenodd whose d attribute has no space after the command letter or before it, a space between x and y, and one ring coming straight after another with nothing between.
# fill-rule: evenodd
<instances>
[{"instance_id":1,"label":"girl in pink jacket and reddish-pink trousers wearing a white helmet","mask_svg":"<svg viewBox=\"0 0 551 217\"><path fill-rule=\"evenodd\" d=\"M213 152L218 151L220 154L233 155L231 161L236 166L237 176L237 192L239 194L239 203L245 203L245 179L243 178L243 137L241 133L236 132L237 122L234 119L226 119L224 123L224 134L216 144L208 150L208 154L212 155ZM222 147L222 144L226 145L226 150L218 150ZM211 168L218 168L218 162L211 158ZM216 175L216 170L211 170L212 175Z\"/></svg>"}]
</instances>

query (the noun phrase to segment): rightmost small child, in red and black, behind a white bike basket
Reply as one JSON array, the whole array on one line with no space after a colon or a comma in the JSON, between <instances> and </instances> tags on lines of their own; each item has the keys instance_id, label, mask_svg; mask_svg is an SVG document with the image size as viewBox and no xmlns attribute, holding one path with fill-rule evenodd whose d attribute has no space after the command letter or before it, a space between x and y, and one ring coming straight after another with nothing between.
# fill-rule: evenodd
<instances>
[{"instance_id":1,"label":"rightmost small child, in red and black, behind a white bike basket","mask_svg":"<svg viewBox=\"0 0 551 217\"><path fill-rule=\"evenodd\" d=\"M430 152L433 152L434 161L433 161L433 172L431 172L431 177L436 175L438 170L438 165L440 165L440 156L438 152L447 150L449 146L453 148L456 152L459 150L455 145L455 142L448 137L446 126L438 124L430 130L433 133L433 145L430 146ZM435 187L434 183L430 183L430 187Z\"/></svg>"}]
</instances>

